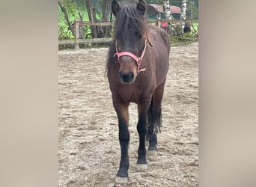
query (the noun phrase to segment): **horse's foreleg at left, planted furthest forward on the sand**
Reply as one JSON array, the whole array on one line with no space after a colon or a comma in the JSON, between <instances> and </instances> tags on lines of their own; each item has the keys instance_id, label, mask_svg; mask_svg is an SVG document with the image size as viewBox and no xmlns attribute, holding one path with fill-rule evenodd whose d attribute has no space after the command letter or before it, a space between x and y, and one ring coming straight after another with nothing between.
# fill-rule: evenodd
<instances>
[{"instance_id":1,"label":"horse's foreleg at left, planted furthest forward on the sand","mask_svg":"<svg viewBox=\"0 0 256 187\"><path fill-rule=\"evenodd\" d=\"M119 143L121 147L121 161L119 171L116 174L116 183L127 183L128 182L128 169L129 169L129 114L128 105L123 105L120 102L113 102L115 111L118 114L118 127L119 127Z\"/></svg>"}]
</instances>

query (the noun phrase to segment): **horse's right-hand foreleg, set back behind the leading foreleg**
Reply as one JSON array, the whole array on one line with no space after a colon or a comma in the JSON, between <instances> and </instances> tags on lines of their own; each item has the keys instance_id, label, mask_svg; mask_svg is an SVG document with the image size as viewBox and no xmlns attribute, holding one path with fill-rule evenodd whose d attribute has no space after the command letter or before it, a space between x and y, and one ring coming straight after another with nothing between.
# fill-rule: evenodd
<instances>
[{"instance_id":1,"label":"horse's right-hand foreleg, set back behind the leading foreleg","mask_svg":"<svg viewBox=\"0 0 256 187\"><path fill-rule=\"evenodd\" d=\"M147 169L146 153L145 148L145 136L147 133L147 110L149 102L138 103L138 124L137 131L139 136L138 145L138 161L136 168L138 171L145 171ZM146 104L148 103L148 104Z\"/></svg>"}]
</instances>

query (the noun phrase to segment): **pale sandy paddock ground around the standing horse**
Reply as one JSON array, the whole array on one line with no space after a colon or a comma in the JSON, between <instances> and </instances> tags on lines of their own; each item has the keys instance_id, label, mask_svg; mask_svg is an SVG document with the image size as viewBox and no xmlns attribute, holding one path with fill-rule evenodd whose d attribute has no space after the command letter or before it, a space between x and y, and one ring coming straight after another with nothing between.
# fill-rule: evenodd
<instances>
[{"instance_id":1,"label":"pale sandy paddock ground around the standing horse","mask_svg":"<svg viewBox=\"0 0 256 187\"><path fill-rule=\"evenodd\" d=\"M59 52L58 186L115 186L118 118L105 75L107 48ZM198 186L198 43L172 46L162 100L158 153L135 170L137 108L129 106L129 183Z\"/></svg>"}]
</instances>

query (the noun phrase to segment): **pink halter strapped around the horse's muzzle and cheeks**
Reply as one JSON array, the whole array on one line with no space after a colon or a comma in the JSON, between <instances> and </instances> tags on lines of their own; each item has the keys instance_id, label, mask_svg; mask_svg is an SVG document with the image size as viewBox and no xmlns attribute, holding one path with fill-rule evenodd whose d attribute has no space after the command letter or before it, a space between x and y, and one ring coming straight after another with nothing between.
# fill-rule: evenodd
<instances>
[{"instance_id":1,"label":"pink halter strapped around the horse's muzzle and cheeks","mask_svg":"<svg viewBox=\"0 0 256 187\"><path fill-rule=\"evenodd\" d=\"M115 55L118 56L118 62L120 63L120 58L122 56L129 56L129 57L133 58L138 66L137 73L140 73L140 72L146 70L146 68L141 69L141 61L144 57L146 48L147 48L147 40L145 40L145 46L141 53L141 57L137 57L136 55L132 54L132 52L118 52L118 43L117 43L117 40L115 40L115 52L116 52ZM114 57L115 57L115 55L114 55Z\"/></svg>"}]
</instances>

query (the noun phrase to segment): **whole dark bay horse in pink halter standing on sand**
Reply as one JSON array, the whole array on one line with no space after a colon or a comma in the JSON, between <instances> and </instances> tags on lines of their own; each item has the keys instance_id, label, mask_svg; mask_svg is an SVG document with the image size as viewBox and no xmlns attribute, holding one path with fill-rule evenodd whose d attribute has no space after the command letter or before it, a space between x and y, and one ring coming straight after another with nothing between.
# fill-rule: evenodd
<instances>
[{"instance_id":1,"label":"whole dark bay horse in pink halter standing on sand","mask_svg":"<svg viewBox=\"0 0 256 187\"><path fill-rule=\"evenodd\" d=\"M116 183L127 183L129 169L130 102L138 105L138 171L147 169L147 151L156 152L157 132L162 123L161 102L169 67L170 41L161 28L147 25L146 3L118 4L112 1L114 34L109 46L106 74L112 103L118 115L121 162ZM146 136L149 141L145 148Z\"/></svg>"}]
</instances>

